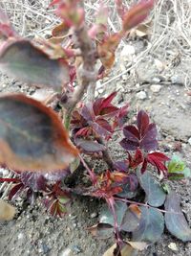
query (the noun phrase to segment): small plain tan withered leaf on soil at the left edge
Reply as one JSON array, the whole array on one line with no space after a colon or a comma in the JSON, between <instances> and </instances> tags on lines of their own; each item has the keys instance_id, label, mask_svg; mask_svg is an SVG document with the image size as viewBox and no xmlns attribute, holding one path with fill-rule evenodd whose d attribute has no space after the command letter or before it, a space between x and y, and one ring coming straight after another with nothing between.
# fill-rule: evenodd
<instances>
[{"instance_id":1,"label":"small plain tan withered leaf on soil at the left edge","mask_svg":"<svg viewBox=\"0 0 191 256\"><path fill-rule=\"evenodd\" d=\"M15 208L10 203L0 199L0 221L11 221L15 215Z\"/></svg>"}]
</instances>

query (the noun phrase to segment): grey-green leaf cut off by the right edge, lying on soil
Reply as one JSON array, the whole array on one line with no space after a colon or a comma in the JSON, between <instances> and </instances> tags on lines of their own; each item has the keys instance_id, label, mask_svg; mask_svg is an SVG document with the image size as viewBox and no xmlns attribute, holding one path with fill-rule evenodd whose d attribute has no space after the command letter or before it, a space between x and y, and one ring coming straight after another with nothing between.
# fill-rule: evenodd
<instances>
[{"instance_id":1,"label":"grey-green leaf cut off by the right edge, lying on soil","mask_svg":"<svg viewBox=\"0 0 191 256\"><path fill-rule=\"evenodd\" d=\"M191 229L180 208L180 196L172 191L164 204L165 224L169 232L183 242L191 241Z\"/></svg>"}]
</instances>

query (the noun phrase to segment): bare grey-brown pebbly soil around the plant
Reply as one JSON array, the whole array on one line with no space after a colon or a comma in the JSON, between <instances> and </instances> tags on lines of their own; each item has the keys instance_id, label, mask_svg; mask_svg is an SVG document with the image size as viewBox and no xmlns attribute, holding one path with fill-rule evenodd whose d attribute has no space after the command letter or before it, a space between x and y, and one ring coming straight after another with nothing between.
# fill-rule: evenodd
<instances>
[{"instance_id":1,"label":"bare grey-brown pebbly soil around the plant","mask_svg":"<svg viewBox=\"0 0 191 256\"><path fill-rule=\"evenodd\" d=\"M143 40L131 39L127 42L133 46L137 55L144 50ZM123 48L123 46L120 46ZM173 65L162 62L161 53L148 54L142 58L135 68L109 82L105 87L97 84L98 96L106 96L117 91L117 105L130 104L130 120L135 120L138 109L149 112L151 119L158 125L159 146L161 151L172 155L176 152L191 168L191 96L187 94L184 75L191 77L191 60L180 58L180 62ZM118 51L117 61L112 75L103 82L114 78L128 68L129 55L121 56ZM161 55L160 55L161 54ZM165 67L159 68L159 60ZM174 59L173 55L169 59ZM171 65L172 64L172 65ZM166 66L167 65L167 66ZM151 85L160 85L154 92ZM155 86L154 86L155 87ZM155 87L156 88L156 87ZM5 75L0 76L1 92L23 92L32 95L35 87L15 81ZM139 93L144 92L144 99ZM117 138L118 140L118 138ZM181 150L176 151L180 142ZM115 159L122 158L124 151L118 146L110 147ZM191 225L191 187L190 180L185 183L170 182L170 185L181 196L182 211ZM99 240L91 236L86 230L88 226L96 224L102 208L102 202L89 197L74 197L69 214L63 219L52 218L41 204L40 198L33 205L23 200L16 202L17 215L12 221L0 222L0 255L2 256L101 256L109 246L115 243L113 239ZM169 248L175 243L177 250ZM70 253L67 254L70 250ZM191 244L182 243L171 236L167 230L157 244L138 253L145 256L189 256Z\"/></svg>"}]
</instances>

